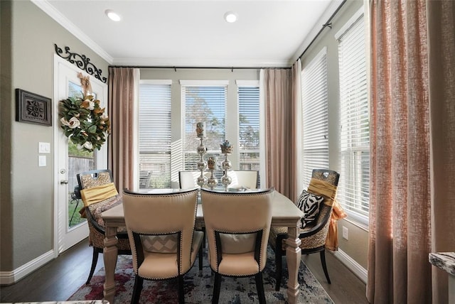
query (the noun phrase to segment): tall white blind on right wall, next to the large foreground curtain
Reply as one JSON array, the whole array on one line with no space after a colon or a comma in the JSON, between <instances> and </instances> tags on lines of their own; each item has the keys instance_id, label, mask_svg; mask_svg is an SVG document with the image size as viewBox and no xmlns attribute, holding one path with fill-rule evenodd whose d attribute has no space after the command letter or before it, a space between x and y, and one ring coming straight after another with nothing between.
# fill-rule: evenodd
<instances>
[{"instance_id":1,"label":"tall white blind on right wall, next to the large foreground curtain","mask_svg":"<svg viewBox=\"0 0 455 304\"><path fill-rule=\"evenodd\" d=\"M339 36L338 54L341 121L338 201L350 217L368 223L370 121L363 15Z\"/></svg>"}]
</instances>

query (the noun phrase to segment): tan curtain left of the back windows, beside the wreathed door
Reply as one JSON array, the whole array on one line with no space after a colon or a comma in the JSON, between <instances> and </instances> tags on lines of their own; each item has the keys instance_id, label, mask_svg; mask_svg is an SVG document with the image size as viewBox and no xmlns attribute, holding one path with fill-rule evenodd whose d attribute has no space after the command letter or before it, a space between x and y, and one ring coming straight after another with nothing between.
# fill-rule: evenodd
<instances>
[{"instance_id":1,"label":"tan curtain left of the back windows, beside the wreathed door","mask_svg":"<svg viewBox=\"0 0 455 304\"><path fill-rule=\"evenodd\" d=\"M112 170L119 192L134 188L134 99L139 69L109 67L109 116L111 136L107 146L107 168Z\"/></svg>"}]
</instances>

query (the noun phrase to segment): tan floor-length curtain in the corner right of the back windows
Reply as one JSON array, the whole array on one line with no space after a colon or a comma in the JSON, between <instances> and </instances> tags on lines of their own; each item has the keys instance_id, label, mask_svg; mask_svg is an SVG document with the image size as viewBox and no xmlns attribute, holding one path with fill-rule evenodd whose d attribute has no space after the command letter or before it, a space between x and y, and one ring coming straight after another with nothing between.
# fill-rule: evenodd
<instances>
[{"instance_id":1,"label":"tan floor-length curtain in the corner right of the back windows","mask_svg":"<svg viewBox=\"0 0 455 304\"><path fill-rule=\"evenodd\" d=\"M296 198L296 136L300 107L300 60L291 69L264 69L266 185Z\"/></svg>"}]
</instances>

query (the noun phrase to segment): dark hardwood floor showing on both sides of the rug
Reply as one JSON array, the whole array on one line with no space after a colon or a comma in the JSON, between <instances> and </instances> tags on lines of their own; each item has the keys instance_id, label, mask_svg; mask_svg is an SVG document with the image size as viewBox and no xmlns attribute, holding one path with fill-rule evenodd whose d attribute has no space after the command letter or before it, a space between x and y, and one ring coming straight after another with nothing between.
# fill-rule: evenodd
<instances>
[{"instance_id":1,"label":"dark hardwood floor showing on both sides of the rug","mask_svg":"<svg viewBox=\"0 0 455 304\"><path fill-rule=\"evenodd\" d=\"M303 256L303 260L336 304L368 304L365 298L365 283L332 254L326 254L328 273L332 281L330 285L323 274L319 254ZM88 246L88 240L85 239L17 283L1 286L0 302L67 300L85 283L91 264L92 248ZM103 265L102 254L100 254L95 273Z\"/></svg>"}]
</instances>

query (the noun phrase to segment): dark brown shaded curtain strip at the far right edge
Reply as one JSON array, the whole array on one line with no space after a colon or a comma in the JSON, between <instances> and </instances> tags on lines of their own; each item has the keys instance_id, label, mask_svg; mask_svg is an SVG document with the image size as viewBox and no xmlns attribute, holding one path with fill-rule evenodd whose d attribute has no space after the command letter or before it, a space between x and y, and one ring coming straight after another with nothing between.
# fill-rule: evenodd
<instances>
[{"instance_id":1,"label":"dark brown shaded curtain strip at the far right edge","mask_svg":"<svg viewBox=\"0 0 455 304\"><path fill-rule=\"evenodd\" d=\"M455 2L427 1L432 156L432 252L455 250ZM447 303L447 273L432 266L433 303Z\"/></svg>"}]
</instances>

